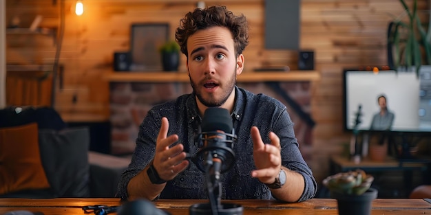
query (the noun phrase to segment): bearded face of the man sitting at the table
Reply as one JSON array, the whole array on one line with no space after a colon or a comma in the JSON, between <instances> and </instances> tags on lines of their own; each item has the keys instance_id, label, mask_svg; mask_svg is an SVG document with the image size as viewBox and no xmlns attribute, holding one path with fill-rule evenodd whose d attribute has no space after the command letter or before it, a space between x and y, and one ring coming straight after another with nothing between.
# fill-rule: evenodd
<instances>
[{"instance_id":1,"label":"bearded face of the man sitting at the table","mask_svg":"<svg viewBox=\"0 0 431 215\"><path fill-rule=\"evenodd\" d=\"M235 56L231 32L225 27L199 30L189 37L187 49L187 69L198 102L208 107L233 104L236 75L244 58Z\"/></svg>"}]
</instances>

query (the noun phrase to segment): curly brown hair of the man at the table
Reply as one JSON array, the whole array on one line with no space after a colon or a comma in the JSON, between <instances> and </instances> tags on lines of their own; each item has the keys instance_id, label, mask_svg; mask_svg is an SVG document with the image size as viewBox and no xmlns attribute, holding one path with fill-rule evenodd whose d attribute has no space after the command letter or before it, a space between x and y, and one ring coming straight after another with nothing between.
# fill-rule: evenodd
<instances>
[{"instance_id":1,"label":"curly brown hair of the man at the table","mask_svg":"<svg viewBox=\"0 0 431 215\"><path fill-rule=\"evenodd\" d=\"M249 24L244 14L235 16L233 12L227 10L226 6L213 5L204 9L196 8L181 19L175 38L182 54L187 56L187 40L192 34L213 26L227 27L231 31L237 56L242 54L245 47L249 45Z\"/></svg>"}]
</instances>

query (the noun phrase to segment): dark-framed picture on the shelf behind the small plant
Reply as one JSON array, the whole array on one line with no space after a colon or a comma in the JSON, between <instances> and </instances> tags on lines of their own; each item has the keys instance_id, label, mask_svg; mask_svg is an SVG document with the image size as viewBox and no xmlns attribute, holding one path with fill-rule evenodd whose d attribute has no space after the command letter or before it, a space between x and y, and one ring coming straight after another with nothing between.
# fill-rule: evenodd
<instances>
[{"instance_id":1,"label":"dark-framed picture on the shelf behind the small plant","mask_svg":"<svg viewBox=\"0 0 431 215\"><path fill-rule=\"evenodd\" d=\"M169 39L168 23L134 23L131 27L131 71L161 71L158 48Z\"/></svg>"}]
</instances>

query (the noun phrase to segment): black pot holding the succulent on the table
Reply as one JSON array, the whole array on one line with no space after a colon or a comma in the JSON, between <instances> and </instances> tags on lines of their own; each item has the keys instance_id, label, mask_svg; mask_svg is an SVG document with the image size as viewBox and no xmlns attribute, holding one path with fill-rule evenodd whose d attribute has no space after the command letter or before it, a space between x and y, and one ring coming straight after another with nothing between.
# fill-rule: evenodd
<instances>
[{"instance_id":1,"label":"black pot holding the succulent on the table","mask_svg":"<svg viewBox=\"0 0 431 215\"><path fill-rule=\"evenodd\" d=\"M377 198L377 190L370 188L361 195L337 192L331 192L330 195L337 199L339 215L370 215L372 200Z\"/></svg>"}]
</instances>

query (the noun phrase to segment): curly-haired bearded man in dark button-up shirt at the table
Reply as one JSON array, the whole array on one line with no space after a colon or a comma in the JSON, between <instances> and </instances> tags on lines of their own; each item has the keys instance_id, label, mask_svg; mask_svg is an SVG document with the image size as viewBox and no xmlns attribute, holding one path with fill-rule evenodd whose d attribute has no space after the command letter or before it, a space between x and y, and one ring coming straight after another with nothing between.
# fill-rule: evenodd
<instances>
[{"instance_id":1,"label":"curly-haired bearded man in dark button-up shirt at the table","mask_svg":"<svg viewBox=\"0 0 431 215\"><path fill-rule=\"evenodd\" d=\"M208 199L205 174L187 159L204 111L227 109L238 135L232 167L220 176L221 199L312 199L313 172L299 151L286 106L236 86L248 45L246 17L225 6L196 8L176 29L193 92L158 104L140 124L132 161L117 197L133 200Z\"/></svg>"}]
</instances>

